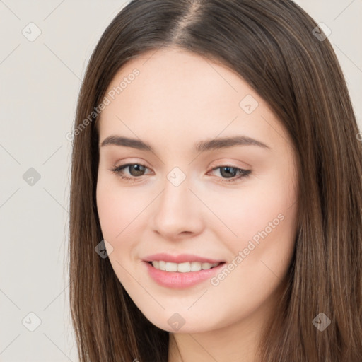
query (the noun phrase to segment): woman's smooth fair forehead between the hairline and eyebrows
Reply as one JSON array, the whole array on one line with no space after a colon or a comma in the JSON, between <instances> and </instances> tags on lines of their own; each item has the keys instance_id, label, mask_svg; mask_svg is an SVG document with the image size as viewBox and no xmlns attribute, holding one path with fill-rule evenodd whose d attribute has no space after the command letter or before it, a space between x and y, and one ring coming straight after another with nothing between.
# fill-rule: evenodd
<instances>
[{"instance_id":1,"label":"woman's smooth fair forehead between the hairline and eyebrows","mask_svg":"<svg viewBox=\"0 0 362 362\"><path fill-rule=\"evenodd\" d=\"M280 128L267 103L239 74L177 48L146 52L124 64L106 96L110 104L100 114L100 139L118 133L167 137L177 144L197 141L200 134L205 139L243 133L272 144L271 128ZM245 112L245 99L255 102L253 112Z\"/></svg>"}]
</instances>

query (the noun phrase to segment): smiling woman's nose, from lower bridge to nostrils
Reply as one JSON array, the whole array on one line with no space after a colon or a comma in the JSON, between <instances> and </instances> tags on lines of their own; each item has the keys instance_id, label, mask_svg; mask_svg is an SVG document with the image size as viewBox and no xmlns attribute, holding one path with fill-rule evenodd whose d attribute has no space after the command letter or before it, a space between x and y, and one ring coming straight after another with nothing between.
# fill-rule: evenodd
<instances>
[{"instance_id":1,"label":"smiling woman's nose, from lower bridge to nostrils","mask_svg":"<svg viewBox=\"0 0 362 362\"><path fill-rule=\"evenodd\" d=\"M173 184L166 178L164 189L154 203L153 230L168 240L190 238L202 232L202 202L189 188L189 179Z\"/></svg>"}]
</instances>

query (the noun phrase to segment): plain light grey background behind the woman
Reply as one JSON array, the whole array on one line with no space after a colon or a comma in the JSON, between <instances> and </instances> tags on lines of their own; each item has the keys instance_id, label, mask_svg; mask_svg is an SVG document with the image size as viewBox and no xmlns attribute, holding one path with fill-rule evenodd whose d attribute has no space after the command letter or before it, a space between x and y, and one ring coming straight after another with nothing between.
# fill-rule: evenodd
<instances>
[{"instance_id":1,"label":"plain light grey background behind the woman","mask_svg":"<svg viewBox=\"0 0 362 362\"><path fill-rule=\"evenodd\" d=\"M68 307L65 135L91 52L127 2L0 0L1 362L78 361ZM361 129L362 0L296 2L332 30ZM30 22L42 32L33 42L22 33ZM29 168L40 174L33 185L23 179ZM41 321L34 332L30 312Z\"/></svg>"}]
</instances>

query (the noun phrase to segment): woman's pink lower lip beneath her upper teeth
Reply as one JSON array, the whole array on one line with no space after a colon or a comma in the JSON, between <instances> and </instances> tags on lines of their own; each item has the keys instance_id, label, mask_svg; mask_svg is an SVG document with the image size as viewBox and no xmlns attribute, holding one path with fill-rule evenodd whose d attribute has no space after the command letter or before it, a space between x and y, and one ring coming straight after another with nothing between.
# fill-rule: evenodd
<instances>
[{"instance_id":1,"label":"woman's pink lower lip beneath her upper teeth","mask_svg":"<svg viewBox=\"0 0 362 362\"><path fill-rule=\"evenodd\" d=\"M199 270L189 271L187 273L180 273L180 271L164 271L156 269L152 264L144 262L148 269L148 274L151 278L160 284L160 286L166 286L167 288L183 289L189 286L194 286L207 279L210 279L214 274L218 273L225 263L218 264L217 267Z\"/></svg>"}]
</instances>

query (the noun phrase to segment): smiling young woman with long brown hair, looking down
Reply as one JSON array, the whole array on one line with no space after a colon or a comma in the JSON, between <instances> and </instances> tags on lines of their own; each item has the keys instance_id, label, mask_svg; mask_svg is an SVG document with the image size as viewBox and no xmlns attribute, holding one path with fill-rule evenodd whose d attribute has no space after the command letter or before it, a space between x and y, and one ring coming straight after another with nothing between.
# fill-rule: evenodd
<instances>
[{"instance_id":1,"label":"smiling young woman with long brown hair, looking down","mask_svg":"<svg viewBox=\"0 0 362 362\"><path fill-rule=\"evenodd\" d=\"M135 0L78 99L71 315L83 361L362 359L362 146L288 0Z\"/></svg>"}]
</instances>

